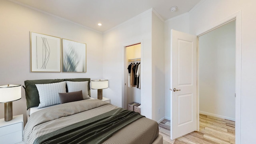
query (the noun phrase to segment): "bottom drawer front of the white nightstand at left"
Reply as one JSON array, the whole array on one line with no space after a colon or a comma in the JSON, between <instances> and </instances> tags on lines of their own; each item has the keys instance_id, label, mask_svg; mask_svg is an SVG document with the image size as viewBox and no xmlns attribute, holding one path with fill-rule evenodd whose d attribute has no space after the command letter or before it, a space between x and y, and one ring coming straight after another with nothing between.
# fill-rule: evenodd
<instances>
[{"instance_id":1,"label":"bottom drawer front of the white nightstand at left","mask_svg":"<svg viewBox=\"0 0 256 144\"><path fill-rule=\"evenodd\" d=\"M1 144L16 144L22 141L22 130L0 136Z\"/></svg>"}]
</instances>

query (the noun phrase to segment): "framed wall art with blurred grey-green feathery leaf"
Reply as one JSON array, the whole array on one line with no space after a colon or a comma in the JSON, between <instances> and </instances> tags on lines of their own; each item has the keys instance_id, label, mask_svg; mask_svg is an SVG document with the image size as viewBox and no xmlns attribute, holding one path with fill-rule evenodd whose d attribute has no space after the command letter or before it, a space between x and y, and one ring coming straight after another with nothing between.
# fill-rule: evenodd
<instances>
[{"instance_id":1,"label":"framed wall art with blurred grey-green feathery leaf","mask_svg":"<svg viewBox=\"0 0 256 144\"><path fill-rule=\"evenodd\" d=\"M86 72L86 44L62 38L62 72Z\"/></svg>"}]
</instances>

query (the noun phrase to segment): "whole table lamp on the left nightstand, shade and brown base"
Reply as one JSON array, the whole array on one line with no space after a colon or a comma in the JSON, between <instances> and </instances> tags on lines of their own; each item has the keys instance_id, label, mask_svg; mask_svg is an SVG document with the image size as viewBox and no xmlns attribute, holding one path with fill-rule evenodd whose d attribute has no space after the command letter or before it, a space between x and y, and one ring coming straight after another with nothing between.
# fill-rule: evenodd
<instances>
[{"instance_id":1,"label":"whole table lamp on the left nightstand, shade and brown base","mask_svg":"<svg viewBox=\"0 0 256 144\"><path fill-rule=\"evenodd\" d=\"M7 84L0 86L0 102L4 102L4 120L12 120L12 102L21 99L21 85Z\"/></svg>"}]
</instances>

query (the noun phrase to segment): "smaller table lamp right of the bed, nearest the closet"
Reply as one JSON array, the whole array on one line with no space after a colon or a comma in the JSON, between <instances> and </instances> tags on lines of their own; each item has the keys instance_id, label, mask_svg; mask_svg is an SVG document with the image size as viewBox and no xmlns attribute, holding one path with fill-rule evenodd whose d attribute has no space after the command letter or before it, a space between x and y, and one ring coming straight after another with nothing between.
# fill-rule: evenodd
<instances>
[{"instance_id":1,"label":"smaller table lamp right of the bed, nearest the closet","mask_svg":"<svg viewBox=\"0 0 256 144\"><path fill-rule=\"evenodd\" d=\"M92 89L98 90L98 99L102 100L102 89L108 88L108 80L92 80Z\"/></svg>"}]
</instances>

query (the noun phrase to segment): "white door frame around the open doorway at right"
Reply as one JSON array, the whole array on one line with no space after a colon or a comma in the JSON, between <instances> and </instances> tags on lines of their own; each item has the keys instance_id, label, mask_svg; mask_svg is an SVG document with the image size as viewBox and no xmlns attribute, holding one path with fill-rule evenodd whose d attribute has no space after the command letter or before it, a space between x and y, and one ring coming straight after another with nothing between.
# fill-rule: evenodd
<instances>
[{"instance_id":1,"label":"white door frame around the open doorway at right","mask_svg":"<svg viewBox=\"0 0 256 144\"><path fill-rule=\"evenodd\" d=\"M223 26L224 24L227 24L228 22L231 21L236 21L236 84L235 84L235 120L236 120L236 125L235 125L235 141L236 144L241 143L241 50L242 50L242 45L241 45L241 27L242 27L242 20L241 20L241 10L236 12L235 14L224 18L224 20L221 20L220 22L214 24L210 28L206 29L202 34L199 34L197 36L197 41L199 36L202 36L216 28L219 28L220 26ZM198 42L197 42L197 130L199 131L199 75L198 75L198 70L199 70L199 61L198 61L198 56L199 56L199 51L198 51Z\"/></svg>"}]
</instances>

